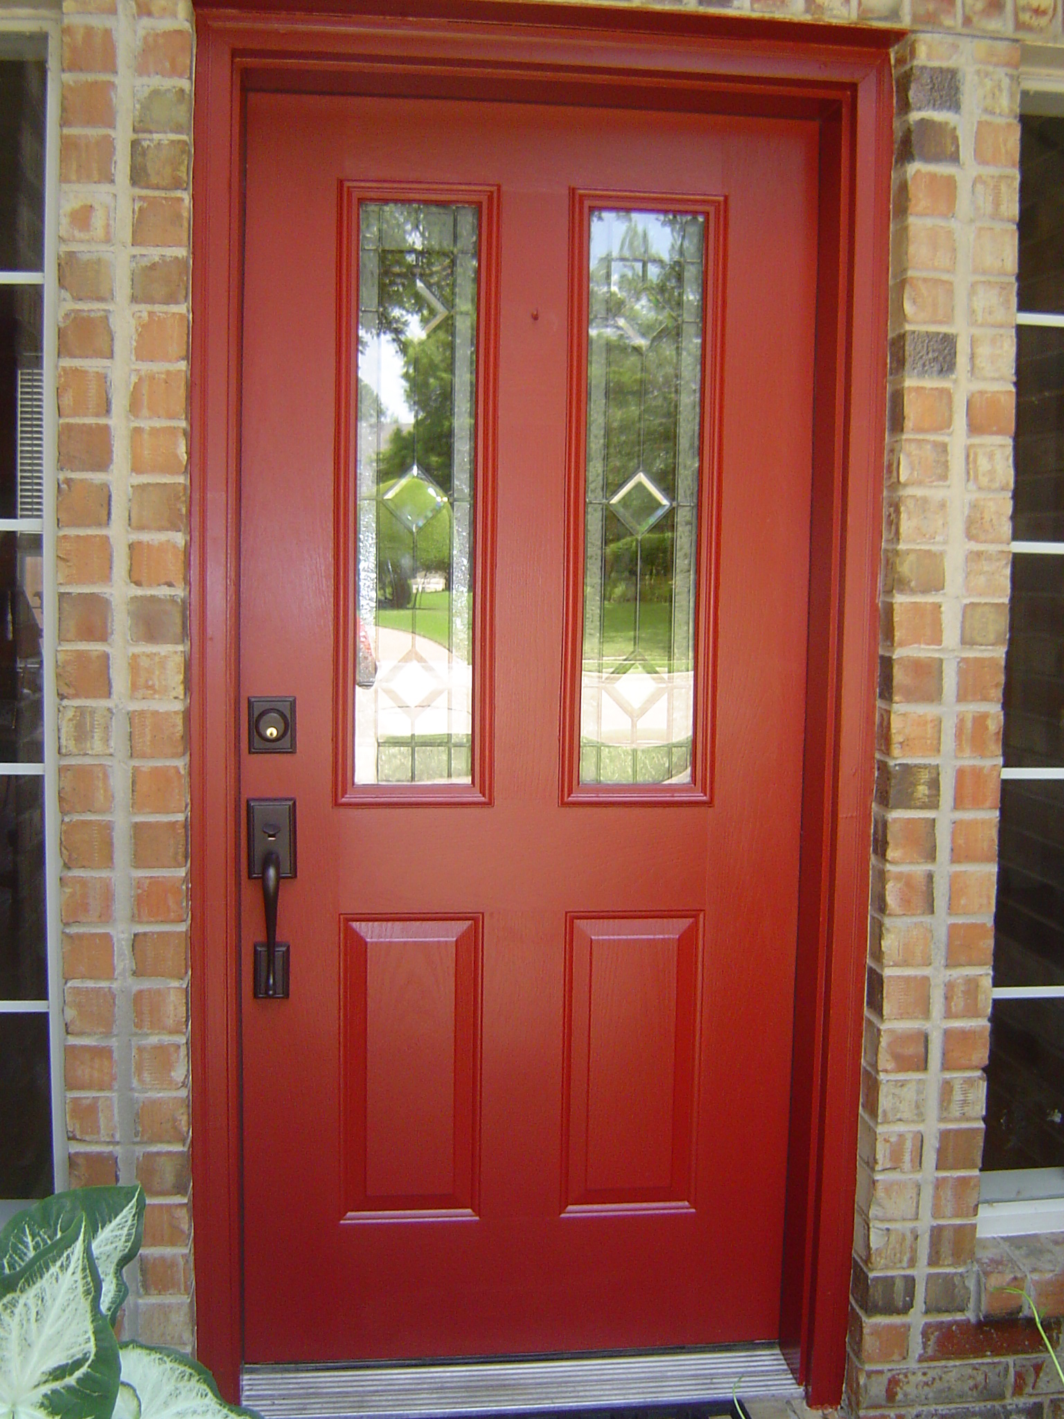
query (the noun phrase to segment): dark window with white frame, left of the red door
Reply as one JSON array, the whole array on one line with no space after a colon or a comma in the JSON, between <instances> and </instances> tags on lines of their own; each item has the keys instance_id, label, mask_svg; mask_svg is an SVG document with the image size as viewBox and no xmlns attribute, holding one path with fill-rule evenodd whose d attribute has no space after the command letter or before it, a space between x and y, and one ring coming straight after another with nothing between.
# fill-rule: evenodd
<instances>
[{"instance_id":1,"label":"dark window with white frame, left of the red door","mask_svg":"<svg viewBox=\"0 0 1064 1419\"><path fill-rule=\"evenodd\" d=\"M0 1223L62 1185L52 534L58 35L0 24Z\"/></svg>"}]
</instances>

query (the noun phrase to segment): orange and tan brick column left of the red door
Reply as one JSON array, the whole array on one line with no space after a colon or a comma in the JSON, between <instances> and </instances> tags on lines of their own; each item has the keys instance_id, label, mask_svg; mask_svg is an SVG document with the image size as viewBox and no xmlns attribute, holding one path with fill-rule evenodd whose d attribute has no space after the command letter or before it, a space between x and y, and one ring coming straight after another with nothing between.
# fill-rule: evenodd
<instances>
[{"instance_id":1,"label":"orange and tan brick column left of the red door","mask_svg":"<svg viewBox=\"0 0 1064 1419\"><path fill-rule=\"evenodd\" d=\"M125 1330L193 1340L186 447L193 33L71 0L60 142L58 687L72 1183L148 1193Z\"/></svg>"}]
</instances>

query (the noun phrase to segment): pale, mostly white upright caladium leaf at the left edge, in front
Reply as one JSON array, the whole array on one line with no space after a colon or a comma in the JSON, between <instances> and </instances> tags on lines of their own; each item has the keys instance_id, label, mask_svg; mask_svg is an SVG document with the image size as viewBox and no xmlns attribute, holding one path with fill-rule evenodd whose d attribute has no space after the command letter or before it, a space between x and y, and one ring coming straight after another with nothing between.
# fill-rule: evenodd
<instances>
[{"instance_id":1,"label":"pale, mostly white upright caladium leaf at the left edge, in front","mask_svg":"<svg viewBox=\"0 0 1064 1419\"><path fill-rule=\"evenodd\" d=\"M111 1419L118 1341L85 1216L0 1276L0 1419Z\"/></svg>"}]
</instances>

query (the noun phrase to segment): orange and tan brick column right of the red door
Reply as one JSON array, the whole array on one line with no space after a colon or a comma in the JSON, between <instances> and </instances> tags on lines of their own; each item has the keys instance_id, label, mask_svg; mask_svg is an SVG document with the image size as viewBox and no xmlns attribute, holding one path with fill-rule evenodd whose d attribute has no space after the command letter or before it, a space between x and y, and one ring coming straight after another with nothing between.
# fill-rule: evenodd
<instances>
[{"instance_id":1,"label":"orange and tan brick column right of the red door","mask_svg":"<svg viewBox=\"0 0 1064 1419\"><path fill-rule=\"evenodd\" d=\"M976 1327L1016 362L1019 47L897 55L878 775L848 1403L1013 1393ZM997 1358L1002 1357L1002 1358Z\"/></svg>"}]
</instances>

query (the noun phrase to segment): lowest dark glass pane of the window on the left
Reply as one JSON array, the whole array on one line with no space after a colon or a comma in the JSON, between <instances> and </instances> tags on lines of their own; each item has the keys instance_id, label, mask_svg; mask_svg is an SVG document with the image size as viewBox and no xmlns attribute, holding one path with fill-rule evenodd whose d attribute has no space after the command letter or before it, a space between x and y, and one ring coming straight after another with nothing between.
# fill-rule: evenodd
<instances>
[{"instance_id":1,"label":"lowest dark glass pane of the window on the left","mask_svg":"<svg viewBox=\"0 0 1064 1419\"><path fill-rule=\"evenodd\" d=\"M0 1198L47 1198L52 1189L47 1015L0 1015Z\"/></svg>"}]
</instances>

